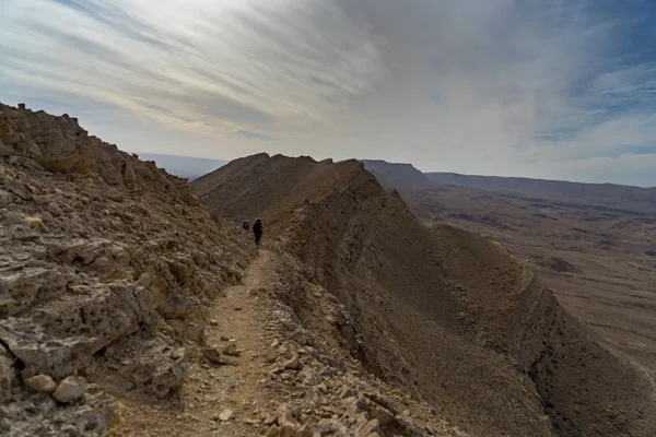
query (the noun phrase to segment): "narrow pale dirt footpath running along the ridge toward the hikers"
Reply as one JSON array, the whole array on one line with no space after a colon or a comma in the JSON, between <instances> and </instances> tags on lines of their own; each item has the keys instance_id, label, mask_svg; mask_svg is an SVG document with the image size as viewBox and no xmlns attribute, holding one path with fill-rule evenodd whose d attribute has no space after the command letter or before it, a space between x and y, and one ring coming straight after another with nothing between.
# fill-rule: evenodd
<instances>
[{"instance_id":1,"label":"narrow pale dirt footpath running along the ridge toward the hikers","mask_svg":"<svg viewBox=\"0 0 656 437\"><path fill-rule=\"evenodd\" d=\"M222 354L236 365L210 365L194 352L181 400L166 405L121 401L109 436L253 436L261 418L276 412L263 383L265 351L274 340L276 328L267 317L266 304L257 294L276 273L274 255L260 249L239 285L226 290L210 309L207 344L220 351L236 343L241 355ZM229 421L220 420L226 409Z\"/></svg>"}]
</instances>

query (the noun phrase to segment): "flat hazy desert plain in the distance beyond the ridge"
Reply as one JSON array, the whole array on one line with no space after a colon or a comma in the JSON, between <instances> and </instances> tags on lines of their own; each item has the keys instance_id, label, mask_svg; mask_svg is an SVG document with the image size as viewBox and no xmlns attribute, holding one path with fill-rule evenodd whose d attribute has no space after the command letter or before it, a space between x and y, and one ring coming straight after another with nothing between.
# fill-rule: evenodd
<instances>
[{"instance_id":1,"label":"flat hazy desert plain in the distance beyond the ridge","mask_svg":"<svg viewBox=\"0 0 656 437\"><path fill-rule=\"evenodd\" d=\"M569 311L655 380L656 188L365 163L419 217L503 241Z\"/></svg>"}]
</instances>

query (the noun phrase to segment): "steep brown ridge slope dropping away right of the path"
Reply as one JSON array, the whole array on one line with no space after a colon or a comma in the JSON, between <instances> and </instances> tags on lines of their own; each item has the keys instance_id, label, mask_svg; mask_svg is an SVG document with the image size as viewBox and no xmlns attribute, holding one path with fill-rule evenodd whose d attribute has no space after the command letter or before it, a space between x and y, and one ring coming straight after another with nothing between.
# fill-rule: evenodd
<instances>
[{"instance_id":1,"label":"steep brown ridge slope dropping away right of the path","mask_svg":"<svg viewBox=\"0 0 656 437\"><path fill-rule=\"evenodd\" d=\"M361 163L257 155L199 180L213 211L261 215L265 238L279 237L337 297L349 318L332 327L353 356L467 429L654 430L639 370L590 340L499 243L425 227ZM295 306L312 326L305 299Z\"/></svg>"}]
</instances>

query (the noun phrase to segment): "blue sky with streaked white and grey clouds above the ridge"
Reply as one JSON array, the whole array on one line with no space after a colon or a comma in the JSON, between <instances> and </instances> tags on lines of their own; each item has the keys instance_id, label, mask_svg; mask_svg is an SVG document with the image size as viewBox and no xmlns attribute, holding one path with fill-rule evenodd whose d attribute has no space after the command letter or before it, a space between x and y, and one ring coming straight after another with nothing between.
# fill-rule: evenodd
<instances>
[{"instance_id":1,"label":"blue sky with streaked white and grey clouds above the ridge","mask_svg":"<svg viewBox=\"0 0 656 437\"><path fill-rule=\"evenodd\" d=\"M656 186L653 0L0 0L0 102L120 149Z\"/></svg>"}]
</instances>

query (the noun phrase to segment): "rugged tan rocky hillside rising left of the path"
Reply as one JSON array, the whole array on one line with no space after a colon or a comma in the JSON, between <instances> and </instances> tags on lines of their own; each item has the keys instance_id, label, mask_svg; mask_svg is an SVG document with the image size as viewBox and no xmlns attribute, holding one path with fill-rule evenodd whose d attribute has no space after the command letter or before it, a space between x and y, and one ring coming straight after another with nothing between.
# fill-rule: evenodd
<instances>
[{"instance_id":1,"label":"rugged tan rocky hillside rising left of the path","mask_svg":"<svg viewBox=\"0 0 656 437\"><path fill-rule=\"evenodd\" d=\"M245 243L184 179L0 105L0 434L103 435L97 395L179 389Z\"/></svg>"}]
</instances>

